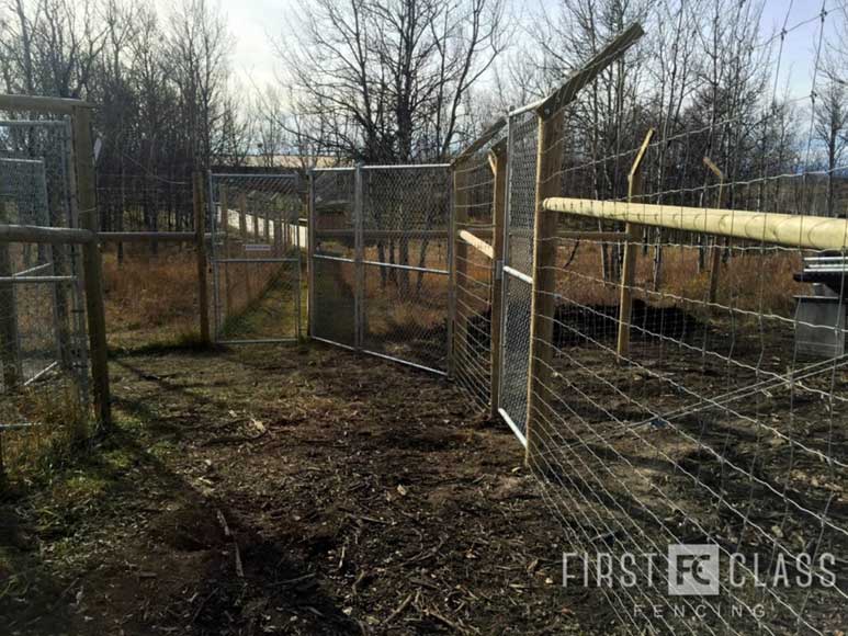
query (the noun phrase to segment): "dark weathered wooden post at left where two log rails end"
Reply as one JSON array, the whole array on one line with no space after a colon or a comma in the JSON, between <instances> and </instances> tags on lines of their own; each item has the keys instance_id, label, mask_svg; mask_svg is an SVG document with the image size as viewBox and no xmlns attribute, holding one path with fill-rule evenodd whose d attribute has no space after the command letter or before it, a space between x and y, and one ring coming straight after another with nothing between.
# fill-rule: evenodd
<instances>
[{"instance_id":1,"label":"dark weathered wooden post at left where two log rails end","mask_svg":"<svg viewBox=\"0 0 848 636\"><path fill-rule=\"evenodd\" d=\"M91 139L91 110L74 109L74 164L77 174L77 201L80 226L100 231L97 188L94 181L94 145ZM100 425L111 428L112 405L109 387L109 350L106 344L106 317L103 306L103 257L100 243L90 241L82 246L82 269L86 285L86 313L88 316L89 349L94 409Z\"/></svg>"}]
</instances>

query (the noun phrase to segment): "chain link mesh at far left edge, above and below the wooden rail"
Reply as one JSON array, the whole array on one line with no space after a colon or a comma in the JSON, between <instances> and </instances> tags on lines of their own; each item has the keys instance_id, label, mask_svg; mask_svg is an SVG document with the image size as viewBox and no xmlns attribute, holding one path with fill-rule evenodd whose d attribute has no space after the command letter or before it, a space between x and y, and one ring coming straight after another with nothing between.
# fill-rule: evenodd
<instances>
[{"instance_id":1,"label":"chain link mesh at far left edge, above and below the wooden rail","mask_svg":"<svg viewBox=\"0 0 848 636\"><path fill-rule=\"evenodd\" d=\"M76 224L67 120L0 122L0 225ZM0 242L0 477L90 412L79 246Z\"/></svg>"}]
</instances>

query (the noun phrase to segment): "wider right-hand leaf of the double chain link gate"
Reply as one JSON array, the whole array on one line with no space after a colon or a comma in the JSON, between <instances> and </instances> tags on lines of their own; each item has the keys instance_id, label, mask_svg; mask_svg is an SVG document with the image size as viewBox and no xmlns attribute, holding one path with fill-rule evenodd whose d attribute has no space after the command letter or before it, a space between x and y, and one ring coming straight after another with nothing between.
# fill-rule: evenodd
<instances>
[{"instance_id":1,"label":"wider right-hand leaf of the double chain link gate","mask_svg":"<svg viewBox=\"0 0 848 636\"><path fill-rule=\"evenodd\" d=\"M362 348L445 372L448 166L362 168Z\"/></svg>"}]
</instances>

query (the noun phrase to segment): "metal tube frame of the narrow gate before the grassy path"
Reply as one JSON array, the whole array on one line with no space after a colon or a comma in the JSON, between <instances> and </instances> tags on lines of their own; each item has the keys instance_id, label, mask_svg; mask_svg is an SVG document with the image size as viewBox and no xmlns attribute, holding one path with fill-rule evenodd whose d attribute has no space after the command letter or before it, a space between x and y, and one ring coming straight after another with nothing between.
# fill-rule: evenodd
<instances>
[{"instance_id":1,"label":"metal tube frame of the narrow gate before the grassy path","mask_svg":"<svg viewBox=\"0 0 848 636\"><path fill-rule=\"evenodd\" d=\"M292 227L295 228L295 241L294 241L294 249L295 254L294 257L280 257L280 258L264 258L264 259L249 259L249 258L228 258L226 253L222 254L221 249L224 247L221 242L219 232L218 232L218 215L216 214L217 211L217 203L215 198L215 183L216 181L221 180L230 180L230 181L238 181L238 180L245 180L245 181L256 181L256 180L278 180L281 182L292 182L293 188L292 192L294 194L297 194L299 191L299 184L301 184L301 177L297 173L291 173L291 174L263 174L263 173L227 173L227 172L212 172L208 173L208 225L212 229L212 288L213 288L213 308L212 314L214 318L214 334L213 340L216 344L275 344L275 343L291 343L291 342L298 342L301 340L302 336L302 325L301 325L301 293L302 293L302 251L303 246L301 245L301 230L299 230L299 214L294 214L291 218L287 219L287 229L284 229L283 231L290 231ZM229 203L229 202L228 202ZM283 224L281 224L283 226ZM284 227L284 226L283 226ZM225 239L226 240L226 237ZM281 337L281 338L239 338L239 339L223 339L221 337L221 331L223 327L223 320L222 320L222 306L221 306L221 276L219 276L219 270L222 266L227 266L227 264L234 264L234 263L250 263L250 264L261 264L261 263L291 263L292 266L295 270L294 276L293 276L293 284L295 287L295 294L294 294L294 325L295 325L295 333L292 337Z\"/></svg>"}]
</instances>

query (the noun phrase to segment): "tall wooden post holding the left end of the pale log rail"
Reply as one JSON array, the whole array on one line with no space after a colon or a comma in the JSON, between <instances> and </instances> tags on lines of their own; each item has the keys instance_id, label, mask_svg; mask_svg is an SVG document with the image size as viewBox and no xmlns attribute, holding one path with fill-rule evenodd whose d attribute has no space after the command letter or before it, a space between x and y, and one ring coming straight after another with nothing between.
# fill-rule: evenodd
<instances>
[{"instance_id":1,"label":"tall wooden post holding the left end of the pale log rail","mask_svg":"<svg viewBox=\"0 0 848 636\"><path fill-rule=\"evenodd\" d=\"M535 222L533 225L533 291L530 311L530 364L527 400L525 462L533 466L546 443L544 429L551 421L551 362L554 356L553 331L556 304L556 229L559 215L545 212L542 202L559 194L563 109L539 112L536 156Z\"/></svg>"}]
</instances>

